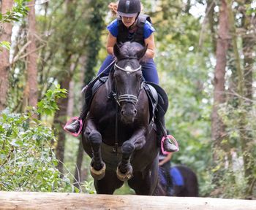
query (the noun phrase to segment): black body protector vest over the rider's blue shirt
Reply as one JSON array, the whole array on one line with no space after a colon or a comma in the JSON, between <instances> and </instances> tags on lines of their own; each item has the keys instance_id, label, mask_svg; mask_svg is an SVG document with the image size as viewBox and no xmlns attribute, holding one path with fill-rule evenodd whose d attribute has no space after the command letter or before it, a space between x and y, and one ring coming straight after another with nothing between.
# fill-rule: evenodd
<instances>
[{"instance_id":1,"label":"black body protector vest over the rider's blue shirt","mask_svg":"<svg viewBox=\"0 0 256 210\"><path fill-rule=\"evenodd\" d=\"M145 46L144 42L144 25L148 20L151 23L151 19L148 15L139 15L137 18L137 24L135 26L135 32L133 36L130 35L129 29L124 26L121 18L118 18L118 35L116 37L117 43L124 43L124 42L138 42L141 45Z\"/></svg>"}]
</instances>

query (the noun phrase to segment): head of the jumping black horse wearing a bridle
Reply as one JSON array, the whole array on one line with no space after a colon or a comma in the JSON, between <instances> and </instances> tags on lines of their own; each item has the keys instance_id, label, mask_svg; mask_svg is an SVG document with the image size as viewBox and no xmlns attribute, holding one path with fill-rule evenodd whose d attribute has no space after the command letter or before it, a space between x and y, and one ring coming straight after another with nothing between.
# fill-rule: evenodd
<instances>
[{"instance_id":1,"label":"head of the jumping black horse wearing a bridle","mask_svg":"<svg viewBox=\"0 0 256 210\"><path fill-rule=\"evenodd\" d=\"M141 89L142 70L140 62L147 46L136 42L125 42L114 46L116 64L112 73L116 89L116 101L121 106L121 120L125 124L133 123L137 114L136 103Z\"/></svg>"}]
</instances>

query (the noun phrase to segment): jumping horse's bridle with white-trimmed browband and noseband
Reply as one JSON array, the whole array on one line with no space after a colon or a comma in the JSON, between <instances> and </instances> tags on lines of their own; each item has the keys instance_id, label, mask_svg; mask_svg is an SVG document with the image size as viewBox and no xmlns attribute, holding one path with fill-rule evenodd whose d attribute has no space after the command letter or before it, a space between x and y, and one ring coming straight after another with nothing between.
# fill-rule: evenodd
<instances>
[{"instance_id":1,"label":"jumping horse's bridle with white-trimmed browband and noseband","mask_svg":"<svg viewBox=\"0 0 256 210\"><path fill-rule=\"evenodd\" d=\"M131 59L131 58L136 58L138 59L137 57L124 57L124 58L121 58L121 60L123 59ZM120 61L120 60L119 60ZM115 63L115 67L121 71L125 71L127 72L127 74L132 74L132 73L135 73L136 71L140 71L141 69L141 65L137 68L137 69L132 69L131 67L127 66L125 69L124 68L121 68L120 66L118 66L116 63ZM141 85L141 83L140 83ZM141 88L140 88L141 89ZM140 92L140 90L139 90ZM117 93L117 91L116 91ZM132 104L137 104L138 102L138 97L137 96L134 96L132 94L123 94L123 95L120 95L120 96L114 96L115 99L116 99L116 103L120 106L121 102L130 102Z\"/></svg>"}]
</instances>

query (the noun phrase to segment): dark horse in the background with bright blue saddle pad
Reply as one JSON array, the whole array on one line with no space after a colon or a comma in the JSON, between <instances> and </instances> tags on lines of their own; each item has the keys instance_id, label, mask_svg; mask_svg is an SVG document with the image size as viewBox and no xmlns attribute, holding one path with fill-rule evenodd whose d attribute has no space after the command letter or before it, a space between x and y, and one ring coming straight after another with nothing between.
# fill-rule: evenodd
<instances>
[{"instance_id":1,"label":"dark horse in the background with bright blue saddle pad","mask_svg":"<svg viewBox=\"0 0 256 210\"><path fill-rule=\"evenodd\" d=\"M167 180L165 173L170 173L172 180ZM165 168L160 166L159 182L154 195L197 197L197 176L187 166L173 166L170 171L165 171Z\"/></svg>"}]
</instances>

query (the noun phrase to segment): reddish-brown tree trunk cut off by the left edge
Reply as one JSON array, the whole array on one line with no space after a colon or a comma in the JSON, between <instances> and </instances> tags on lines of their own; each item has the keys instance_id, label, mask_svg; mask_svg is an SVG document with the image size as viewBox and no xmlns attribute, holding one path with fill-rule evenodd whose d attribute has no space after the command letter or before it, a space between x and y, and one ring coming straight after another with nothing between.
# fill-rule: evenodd
<instances>
[{"instance_id":1,"label":"reddish-brown tree trunk cut off by the left edge","mask_svg":"<svg viewBox=\"0 0 256 210\"><path fill-rule=\"evenodd\" d=\"M7 12L7 9L12 9L13 1L2 0L1 1L1 13ZM12 23L2 24L2 29L0 28L0 41L1 42L11 42L12 36ZM8 76L9 76L9 50L2 49L0 51L0 116L1 112L7 106L7 91L8 91Z\"/></svg>"}]
</instances>

